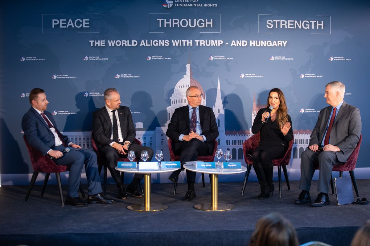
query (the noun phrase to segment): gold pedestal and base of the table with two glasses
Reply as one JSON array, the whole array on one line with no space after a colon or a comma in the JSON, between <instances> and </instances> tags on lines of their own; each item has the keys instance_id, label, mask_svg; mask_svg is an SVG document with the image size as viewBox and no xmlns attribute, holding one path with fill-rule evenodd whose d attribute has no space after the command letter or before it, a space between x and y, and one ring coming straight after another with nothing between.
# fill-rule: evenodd
<instances>
[{"instance_id":1,"label":"gold pedestal and base of the table with two glasses","mask_svg":"<svg viewBox=\"0 0 370 246\"><path fill-rule=\"evenodd\" d=\"M194 206L194 208L203 211L226 211L234 209L235 206L226 203L218 203L218 174L211 174L212 193L211 203L201 203Z\"/></svg>"}]
</instances>

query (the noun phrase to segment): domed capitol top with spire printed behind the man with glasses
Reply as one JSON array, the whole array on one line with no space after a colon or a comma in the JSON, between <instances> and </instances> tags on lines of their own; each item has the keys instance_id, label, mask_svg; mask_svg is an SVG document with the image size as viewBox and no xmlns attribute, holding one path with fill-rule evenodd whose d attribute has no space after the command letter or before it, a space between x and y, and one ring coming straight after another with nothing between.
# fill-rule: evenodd
<instances>
[{"instance_id":1,"label":"domed capitol top with spire printed behind the man with glasses","mask_svg":"<svg viewBox=\"0 0 370 246\"><path fill-rule=\"evenodd\" d=\"M174 88L174 93L169 98L171 99L171 106L167 107L167 122L165 126L168 126L169 122L171 121L172 114L174 114L176 108L188 105L188 100L186 100L186 90L190 86L196 86L201 90L201 93L203 94L201 105L205 106L206 96L202 86L198 83L198 81L192 78L189 58L189 62L186 64L186 74L182 79L179 80L179 82L177 82Z\"/></svg>"}]
</instances>

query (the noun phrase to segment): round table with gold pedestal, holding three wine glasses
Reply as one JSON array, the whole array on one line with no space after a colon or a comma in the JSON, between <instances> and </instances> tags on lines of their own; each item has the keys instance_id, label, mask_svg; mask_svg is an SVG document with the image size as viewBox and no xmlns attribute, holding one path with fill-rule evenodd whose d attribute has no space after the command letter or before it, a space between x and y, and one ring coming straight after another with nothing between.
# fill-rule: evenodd
<instances>
[{"instance_id":1,"label":"round table with gold pedestal, holding three wine glasses","mask_svg":"<svg viewBox=\"0 0 370 246\"><path fill-rule=\"evenodd\" d=\"M144 169L138 170L134 168L115 168L118 171L125 173L144 173L144 204L132 204L128 205L127 208L132 211L139 212L157 212L166 210L168 206L161 204L151 204L150 193L151 193L151 174L152 173L165 173L169 171L176 171L178 168L163 168L163 169Z\"/></svg>"}]
</instances>

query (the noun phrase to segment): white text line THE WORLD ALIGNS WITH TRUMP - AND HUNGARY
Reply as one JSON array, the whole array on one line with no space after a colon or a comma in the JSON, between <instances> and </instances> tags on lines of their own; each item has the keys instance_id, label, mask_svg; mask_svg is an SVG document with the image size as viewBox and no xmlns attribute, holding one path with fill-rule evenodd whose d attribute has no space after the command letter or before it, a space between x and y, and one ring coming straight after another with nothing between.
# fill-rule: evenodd
<instances>
[{"instance_id":1,"label":"white text line THE WORLD ALIGNS WITH TRUMP - AND HUNGARY","mask_svg":"<svg viewBox=\"0 0 370 246\"><path fill-rule=\"evenodd\" d=\"M90 40L90 46L248 46L246 40ZM249 46L286 47L284 40L250 40Z\"/></svg>"}]
</instances>

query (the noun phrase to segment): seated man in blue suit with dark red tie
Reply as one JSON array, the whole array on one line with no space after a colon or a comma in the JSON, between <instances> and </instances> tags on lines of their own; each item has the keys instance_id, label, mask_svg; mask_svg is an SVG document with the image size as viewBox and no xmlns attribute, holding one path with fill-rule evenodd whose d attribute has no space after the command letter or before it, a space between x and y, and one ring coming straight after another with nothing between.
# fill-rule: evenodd
<instances>
[{"instance_id":1,"label":"seated man in blue suit with dark red tie","mask_svg":"<svg viewBox=\"0 0 370 246\"><path fill-rule=\"evenodd\" d=\"M81 172L85 165L88 180L89 203L112 203L100 195L101 184L98 174L96 154L91 150L68 141L68 136L62 135L50 112L46 111L48 101L45 91L35 88L30 92L31 108L22 118L22 129L28 143L43 155L53 157L57 165L70 166L68 176L68 191L65 204L74 206L87 206L87 203L78 197ZM62 153L66 146L70 152Z\"/></svg>"}]
</instances>

